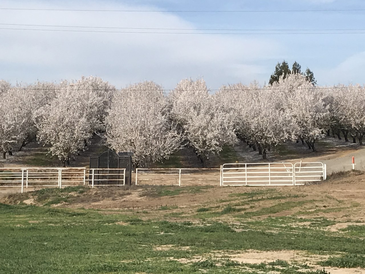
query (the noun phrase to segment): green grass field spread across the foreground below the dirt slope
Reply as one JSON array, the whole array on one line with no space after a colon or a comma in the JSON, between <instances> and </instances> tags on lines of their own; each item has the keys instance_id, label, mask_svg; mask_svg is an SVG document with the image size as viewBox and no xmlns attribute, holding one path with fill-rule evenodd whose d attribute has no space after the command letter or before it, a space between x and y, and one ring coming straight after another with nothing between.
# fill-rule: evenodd
<instances>
[{"instance_id":1,"label":"green grass field spread across the foreground below the dirt slope","mask_svg":"<svg viewBox=\"0 0 365 274\"><path fill-rule=\"evenodd\" d=\"M0 273L326 274L331 267L365 267L364 225L331 231L327 228L339 221L315 213L272 216L318 203L304 194L248 188L184 212L177 211L178 204L147 210L51 206L72 203L73 195L88 191L76 187L18 195L22 201L33 197L38 206L0 203ZM138 191L149 199L172 199L216 190ZM246 260L259 251L298 255L295 260Z\"/></svg>"}]
</instances>

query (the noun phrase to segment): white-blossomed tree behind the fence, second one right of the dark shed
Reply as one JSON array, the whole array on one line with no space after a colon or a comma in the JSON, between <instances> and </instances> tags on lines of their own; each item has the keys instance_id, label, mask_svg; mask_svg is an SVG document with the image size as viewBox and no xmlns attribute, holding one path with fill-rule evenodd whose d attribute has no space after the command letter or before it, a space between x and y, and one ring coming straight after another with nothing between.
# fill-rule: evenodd
<instances>
[{"instance_id":1,"label":"white-blossomed tree behind the fence, second one right of the dark shed","mask_svg":"<svg viewBox=\"0 0 365 274\"><path fill-rule=\"evenodd\" d=\"M169 94L170 115L203 165L211 154L218 154L224 145L233 145L237 138L229 114L210 95L205 81L185 79Z\"/></svg>"}]
</instances>

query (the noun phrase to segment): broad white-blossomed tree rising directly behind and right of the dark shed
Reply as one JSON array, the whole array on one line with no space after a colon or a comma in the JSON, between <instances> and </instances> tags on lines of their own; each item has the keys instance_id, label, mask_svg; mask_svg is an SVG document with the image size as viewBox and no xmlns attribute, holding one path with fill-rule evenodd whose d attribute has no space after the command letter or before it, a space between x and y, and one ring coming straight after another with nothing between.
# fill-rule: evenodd
<instances>
[{"instance_id":1,"label":"broad white-blossomed tree rising directly behind and right of the dark shed","mask_svg":"<svg viewBox=\"0 0 365 274\"><path fill-rule=\"evenodd\" d=\"M160 85L142 82L116 92L107 121L107 142L116 152L132 151L134 167L162 161L180 148Z\"/></svg>"}]
</instances>

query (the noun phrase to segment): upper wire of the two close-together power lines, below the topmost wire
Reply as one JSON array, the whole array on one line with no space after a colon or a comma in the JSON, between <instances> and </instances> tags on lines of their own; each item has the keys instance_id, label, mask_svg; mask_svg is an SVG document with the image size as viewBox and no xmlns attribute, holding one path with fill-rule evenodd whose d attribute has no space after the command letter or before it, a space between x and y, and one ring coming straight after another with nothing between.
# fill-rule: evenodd
<instances>
[{"instance_id":1,"label":"upper wire of the two close-together power lines, below the topmost wire","mask_svg":"<svg viewBox=\"0 0 365 274\"><path fill-rule=\"evenodd\" d=\"M27 27L66 27L66 28L105 28L123 30L194 30L194 31L365 31L364 28L321 28L321 29L240 29L240 28L142 28L142 27L93 27L93 26L67 26L67 25L37 25L37 24L8 24L3 26L27 26Z\"/></svg>"}]
</instances>

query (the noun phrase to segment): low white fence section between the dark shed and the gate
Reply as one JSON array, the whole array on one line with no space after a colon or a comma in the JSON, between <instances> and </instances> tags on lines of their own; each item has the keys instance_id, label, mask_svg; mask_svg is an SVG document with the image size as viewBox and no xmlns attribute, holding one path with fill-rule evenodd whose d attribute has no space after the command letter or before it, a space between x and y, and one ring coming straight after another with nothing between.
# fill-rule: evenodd
<instances>
[{"instance_id":1,"label":"low white fence section between the dark shed and the gate","mask_svg":"<svg viewBox=\"0 0 365 274\"><path fill-rule=\"evenodd\" d=\"M218 177L219 176L219 177ZM181 186L183 182L193 184L220 180L220 168L136 168L135 185L145 182L154 185ZM151 183L149 183L151 182Z\"/></svg>"}]
</instances>

